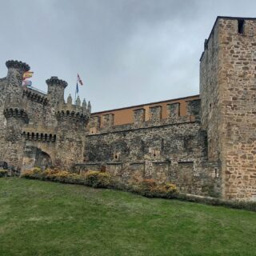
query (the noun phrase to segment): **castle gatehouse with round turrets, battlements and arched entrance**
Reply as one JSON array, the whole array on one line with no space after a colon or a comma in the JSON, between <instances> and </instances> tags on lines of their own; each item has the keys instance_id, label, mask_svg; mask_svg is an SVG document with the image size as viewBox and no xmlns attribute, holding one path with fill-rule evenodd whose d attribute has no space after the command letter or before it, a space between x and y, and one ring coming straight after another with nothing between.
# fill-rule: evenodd
<instances>
[{"instance_id":1,"label":"castle gatehouse with round turrets, battlements and arched entrance","mask_svg":"<svg viewBox=\"0 0 256 256\"><path fill-rule=\"evenodd\" d=\"M64 102L65 81L46 80L48 93L22 88L26 63L6 62L8 74L0 88L0 157L15 170L32 166L70 168L82 162L90 105L78 98Z\"/></svg>"}]
</instances>

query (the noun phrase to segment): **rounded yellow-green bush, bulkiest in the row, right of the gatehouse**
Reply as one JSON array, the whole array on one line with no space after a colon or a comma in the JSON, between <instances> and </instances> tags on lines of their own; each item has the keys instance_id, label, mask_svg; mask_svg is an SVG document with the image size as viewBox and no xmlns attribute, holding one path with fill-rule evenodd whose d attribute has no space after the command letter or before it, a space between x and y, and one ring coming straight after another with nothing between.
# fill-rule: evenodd
<instances>
[{"instance_id":1,"label":"rounded yellow-green bush, bulkiest in the row, right of the gatehouse","mask_svg":"<svg viewBox=\"0 0 256 256\"><path fill-rule=\"evenodd\" d=\"M89 170L85 175L85 185L92 187L109 187L111 178L109 173L102 173L96 170Z\"/></svg>"}]
</instances>

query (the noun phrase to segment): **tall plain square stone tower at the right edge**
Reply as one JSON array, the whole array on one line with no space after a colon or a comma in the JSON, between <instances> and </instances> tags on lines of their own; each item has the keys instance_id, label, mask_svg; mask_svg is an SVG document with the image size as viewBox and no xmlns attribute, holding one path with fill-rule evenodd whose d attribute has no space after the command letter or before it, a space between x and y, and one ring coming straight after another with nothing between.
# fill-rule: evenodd
<instances>
[{"instance_id":1,"label":"tall plain square stone tower at the right edge","mask_svg":"<svg viewBox=\"0 0 256 256\"><path fill-rule=\"evenodd\" d=\"M256 199L256 18L218 17L200 59L202 128L222 197Z\"/></svg>"}]
</instances>

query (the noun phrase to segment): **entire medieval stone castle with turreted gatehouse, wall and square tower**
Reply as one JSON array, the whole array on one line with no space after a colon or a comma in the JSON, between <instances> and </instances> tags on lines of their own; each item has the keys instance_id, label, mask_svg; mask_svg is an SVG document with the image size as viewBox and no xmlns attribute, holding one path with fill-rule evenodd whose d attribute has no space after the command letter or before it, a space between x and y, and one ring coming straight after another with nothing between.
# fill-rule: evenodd
<instances>
[{"instance_id":1,"label":"entire medieval stone castle with turreted gatehouse, wall and square tower","mask_svg":"<svg viewBox=\"0 0 256 256\"><path fill-rule=\"evenodd\" d=\"M218 17L200 58L200 95L100 113L22 87L30 66L0 79L0 160L11 170L105 170L122 182L154 178L184 193L256 200L256 18Z\"/></svg>"}]
</instances>

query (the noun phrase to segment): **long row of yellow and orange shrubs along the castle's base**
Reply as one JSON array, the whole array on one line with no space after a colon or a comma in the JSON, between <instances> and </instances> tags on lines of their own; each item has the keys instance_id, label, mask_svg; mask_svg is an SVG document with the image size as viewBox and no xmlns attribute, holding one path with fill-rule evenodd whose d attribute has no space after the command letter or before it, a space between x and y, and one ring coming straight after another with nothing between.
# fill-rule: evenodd
<instances>
[{"instance_id":1,"label":"long row of yellow and orange shrubs along the castle's base","mask_svg":"<svg viewBox=\"0 0 256 256\"><path fill-rule=\"evenodd\" d=\"M0 170L1 177L1 170ZM124 190L140 194L148 198L175 198L182 201L198 202L211 206L226 206L234 209L256 211L256 202L226 201L220 198L202 197L193 194L178 193L176 186L172 183L158 185L153 179L144 179L137 183L123 183L118 181L109 173L99 171L88 171L85 175L73 174L65 170L47 169L42 171L35 167L26 170L23 178L34 178L52 182L62 182L92 186L94 188L110 188Z\"/></svg>"}]
</instances>

